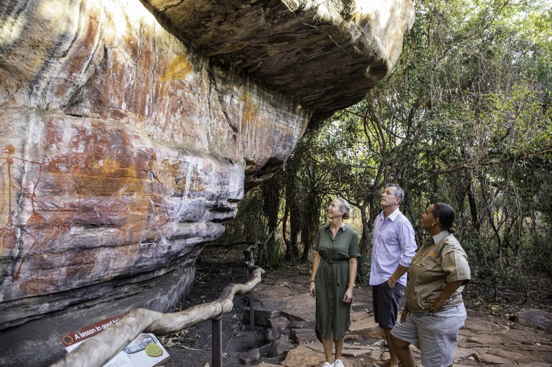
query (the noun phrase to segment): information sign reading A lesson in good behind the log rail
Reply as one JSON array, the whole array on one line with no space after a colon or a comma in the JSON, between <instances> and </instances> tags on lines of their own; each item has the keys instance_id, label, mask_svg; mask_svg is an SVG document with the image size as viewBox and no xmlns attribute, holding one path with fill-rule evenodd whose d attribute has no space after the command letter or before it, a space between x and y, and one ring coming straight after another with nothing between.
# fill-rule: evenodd
<instances>
[{"instance_id":1,"label":"information sign reading A lesson in good behind the log rail","mask_svg":"<svg viewBox=\"0 0 552 367\"><path fill-rule=\"evenodd\" d=\"M69 353L86 339L101 333L106 328L118 322L127 313L128 312L120 313L119 315L84 326L79 330L63 334L61 335L61 342ZM168 358L169 355L167 351L163 348L155 335L141 333L135 337L128 346L117 353L115 357L110 359L108 363L104 364L103 367L153 367L158 366Z\"/></svg>"}]
</instances>

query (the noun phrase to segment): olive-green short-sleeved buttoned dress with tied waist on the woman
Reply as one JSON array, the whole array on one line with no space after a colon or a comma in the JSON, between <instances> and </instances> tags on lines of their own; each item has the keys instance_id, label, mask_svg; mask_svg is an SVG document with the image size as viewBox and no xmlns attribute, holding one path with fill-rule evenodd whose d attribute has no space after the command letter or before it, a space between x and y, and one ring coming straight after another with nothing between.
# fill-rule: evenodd
<instances>
[{"instance_id":1,"label":"olive-green short-sleeved buttoned dress with tied waist on the woman","mask_svg":"<svg viewBox=\"0 0 552 367\"><path fill-rule=\"evenodd\" d=\"M318 229L314 249L321 260L316 273L316 335L339 340L351 326L351 303L343 302L349 283L349 262L359 258L358 234L348 224L333 238L330 225Z\"/></svg>"}]
</instances>

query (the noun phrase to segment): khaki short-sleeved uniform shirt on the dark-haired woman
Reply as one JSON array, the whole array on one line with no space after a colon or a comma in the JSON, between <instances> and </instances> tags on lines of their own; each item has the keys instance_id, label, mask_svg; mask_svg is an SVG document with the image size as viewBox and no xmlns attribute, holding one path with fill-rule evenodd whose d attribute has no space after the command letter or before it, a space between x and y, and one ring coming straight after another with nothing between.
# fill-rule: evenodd
<instances>
[{"instance_id":1,"label":"khaki short-sleeved uniform shirt on the dark-haired woman","mask_svg":"<svg viewBox=\"0 0 552 367\"><path fill-rule=\"evenodd\" d=\"M426 312L424 300L437 300L447 282L465 280L441 309L462 303L464 284L470 281L468 257L449 231L426 238L408 271L406 303L411 312Z\"/></svg>"}]
</instances>

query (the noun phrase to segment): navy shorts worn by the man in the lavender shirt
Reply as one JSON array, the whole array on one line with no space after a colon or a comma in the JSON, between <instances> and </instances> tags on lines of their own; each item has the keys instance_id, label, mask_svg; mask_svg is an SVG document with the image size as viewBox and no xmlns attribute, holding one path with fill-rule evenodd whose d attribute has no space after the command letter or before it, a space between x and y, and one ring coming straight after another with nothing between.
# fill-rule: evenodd
<instances>
[{"instance_id":1,"label":"navy shorts worn by the man in the lavender shirt","mask_svg":"<svg viewBox=\"0 0 552 367\"><path fill-rule=\"evenodd\" d=\"M372 286L374 319L380 328L393 328L397 323L397 313L399 313L399 304L404 294L404 288L404 285L395 283L391 289L387 281Z\"/></svg>"}]
</instances>

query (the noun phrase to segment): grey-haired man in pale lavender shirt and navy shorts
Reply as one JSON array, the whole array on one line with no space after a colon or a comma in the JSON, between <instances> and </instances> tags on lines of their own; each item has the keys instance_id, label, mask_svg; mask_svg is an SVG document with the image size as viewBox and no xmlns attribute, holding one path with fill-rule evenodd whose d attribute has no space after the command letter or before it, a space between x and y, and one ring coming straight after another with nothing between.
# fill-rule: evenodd
<instances>
[{"instance_id":1,"label":"grey-haired man in pale lavender shirt and navy shorts","mask_svg":"<svg viewBox=\"0 0 552 367\"><path fill-rule=\"evenodd\" d=\"M375 361L375 367L397 367L399 359L391 344L391 329L397 322L399 303L406 287L406 272L416 251L412 224L400 212L404 190L387 184L374 221L370 285L375 322L384 329L391 359Z\"/></svg>"}]
</instances>

